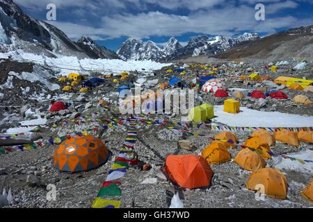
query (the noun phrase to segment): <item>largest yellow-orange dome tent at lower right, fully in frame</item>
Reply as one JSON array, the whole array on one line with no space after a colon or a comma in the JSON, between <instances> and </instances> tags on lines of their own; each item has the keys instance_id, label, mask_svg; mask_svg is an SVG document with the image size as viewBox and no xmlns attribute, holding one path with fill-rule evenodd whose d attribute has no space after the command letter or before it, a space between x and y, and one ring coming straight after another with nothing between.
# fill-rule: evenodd
<instances>
[{"instance_id":1,"label":"largest yellow-orange dome tent at lower right, fully in frame","mask_svg":"<svg viewBox=\"0 0 313 222\"><path fill-rule=\"evenodd\" d=\"M246 183L246 187L254 191L259 191L260 185L264 185L264 194L267 196L279 199L286 199L287 197L287 179L277 169L266 167L252 172Z\"/></svg>"}]
</instances>

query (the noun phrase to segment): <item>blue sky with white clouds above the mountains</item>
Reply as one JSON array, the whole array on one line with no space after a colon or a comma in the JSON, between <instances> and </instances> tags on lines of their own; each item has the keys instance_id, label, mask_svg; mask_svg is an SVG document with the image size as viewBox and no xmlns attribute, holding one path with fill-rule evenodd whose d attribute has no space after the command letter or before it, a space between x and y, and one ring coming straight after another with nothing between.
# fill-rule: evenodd
<instances>
[{"instance_id":1,"label":"blue sky with white clouds above the mountains","mask_svg":"<svg viewBox=\"0 0 313 222\"><path fill-rule=\"evenodd\" d=\"M49 21L72 40L89 36L116 50L128 37L164 44L174 36L186 44L197 35L244 32L270 35L313 24L313 0L13 0L24 12L46 20L48 3L56 4ZM255 5L265 6L265 20L255 19Z\"/></svg>"}]
</instances>

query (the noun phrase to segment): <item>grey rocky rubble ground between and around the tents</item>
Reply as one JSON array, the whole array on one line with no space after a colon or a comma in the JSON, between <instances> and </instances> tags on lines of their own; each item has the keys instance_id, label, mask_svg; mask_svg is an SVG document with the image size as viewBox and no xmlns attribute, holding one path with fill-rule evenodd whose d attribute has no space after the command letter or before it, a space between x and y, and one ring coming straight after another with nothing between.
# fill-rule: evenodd
<instances>
[{"instance_id":1,"label":"grey rocky rubble ground between and around the tents","mask_svg":"<svg viewBox=\"0 0 313 222\"><path fill-rule=\"evenodd\" d=\"M32 72L33 69L41 70L42 67L37 65L31 67L29 64L23 64L25 69L17 69L22 65L12 61L1 62L1 76L0 85L6 82L9 71L20 73L22 71ZM294 76L298 78L312 79L312 64L308 65L304 70L293 71L292 67L296 64L294 61L289 61L290 65L282 65L279 67L277 73L269 73L262 70L264 61L249 61L242 66L234 66L224 60L214 60L214 65L225 65L227 71L225 73L217 74L223 80L225 86L230 88L246 88L256 89L258 87L266 87L264 83L259 85L246 86L232 77L237 74L246 74L247 70L258 70L261 76L266 74L271 78L277 76ZM3 65L5 64L5 65ZM158 79L159 83L172 78L172 76L179 76L184 78L187 82L194 78L195 69L186 68L188 74L180 76L179 74L166 73L168 68L175 69L182 64L175 64L170 67L164 67L150 76L143 76L143 74L131 73L131 78L135 81L138 78L145 78L145 87L155 89L156 84L154 80ZM4 70L7 69L7 70ZM26 70L27 69L27 70ZM199 69L200 74L207 72ZM95 74L96 75L96 74ZM51 83L57 83L56 78L49 79ZM151 81L152 80L152 81ZM122 83L121 83L122 84ZM91 92L86 94L79 94L76 92L64 93L60 89L51 91L49 89L42 90L37 83L30 83L27 81L20 81L17 78L13 79L13 85L17 86L14 89L3 89L3 97L1 99L0 108L0 130L5 133L7 128L19 126L19 121L24 119L36 119L38 117L47 118L48 122L61 121L62 119L73 119L80 115L90 113L97 113L102 108L97 104L99 99L105 99L111 103L111 107L118 101L117 87L110 81L95 87ZM62 85L61 85L62 86ZM22 88L30 87L29 94L23 94ZM21 89L22 91L18 91ZM274 89L268 87L268 89ZM247 108L263 111L279 111L291 114L300 114L305 116L312 116L313 105L300 105L294 103L291 99L296 94L305 94L311 101L313 101L312 92L298 92L294 89L281 89L289 96L289 99L284 101L277 101L275 99L266 98L266 103L259 105L259 100L246 97L241 100L241 106ZM41 96L35 97L38 94ZM31 96L30 96L31 95ZM230 94L232 97L232 94ZM49 108L50 99L59 99L65 102L72 103L71 108L67 111L50 113ZM195 102L198 104L202 102L210 103L211 105L223 104L224 99L215 98L212 94L200 93L199 99ZM196 105L197 105L196 104ZM29 111L31 110L31 111ZM33 114L31 114L33 112ZM113 112L104 112L101 114L102 118L109 119L113 117ZM160 118L167 118L172 121L177 121L179 116L160 116ZM58 126L55 129L46 129L43 132L35 133L36 138L45 143L44 146L38 149L31 149L29 151L15 151L6 155L0 155L0 190L9 188L13 193L13 205L6 207L90 207L95 196L99 191L100 185L106 178L106 175L111 169L114 157L118 154L118 149L127 134L126 126L115 126L112 129L104 130L99 136L106 146L113 153L113 157L106 162L102 167L92 171L83 173L59 173L52 166L53 153L57 145L50 145L47 143L49 137L61 136L70 134L73 131L86 130L93 127L95 123L86 123L78 126L74 123L68 123L64 126ZM214 137L218 131L208 131L205 128L192 128L194 133L205 133L210 137ZM239 143L248 138L250 133L242 132L236 133ZM32 135L34 137L34 135ZM179 139L188 139L192 142L195 149L193 151L186 151L180 148L177 144ZM233 161L223 164L213 165L211 168L214 171L211 187L209 189L182 189L175 187L171 182L161 173L164 160L167 155L180 154L195 154L200 155L203 148L205 148L211 141L204 137L195 137L185 135L175 130L168 130L159 128L158 126L147 126L140 123L138 126L138 141L136 142L135 151L138 153L140 160L152 165L150 171L141 171L133 167L127 171L126 175L120 179L122 185L121 207L168 207L170 199L175 191L179 191L179 197L184 203L184 207L312 207L312 203L300 196L300 192L304 189L312 178L312 174L304 171L291 171L285 169L283 173L287 177L289 189L287 200L278 200L268 198L264 201L255 200L255 193L246 189L246 182L250 175L249 171L243 171L239 165L234 164ZM298 148L286 144L277 143L273 146L272 151L278 154L295 153L310 149L313 151L313 146L302 143ZM235 157L240 148L230 149L232 158ZM268 167L275 165L275 160L267 161ZM142 183L149 178L157 178L151 184ZM48 201L47 185L56 185L56 201Z\"/></svg>"}]
</instances>

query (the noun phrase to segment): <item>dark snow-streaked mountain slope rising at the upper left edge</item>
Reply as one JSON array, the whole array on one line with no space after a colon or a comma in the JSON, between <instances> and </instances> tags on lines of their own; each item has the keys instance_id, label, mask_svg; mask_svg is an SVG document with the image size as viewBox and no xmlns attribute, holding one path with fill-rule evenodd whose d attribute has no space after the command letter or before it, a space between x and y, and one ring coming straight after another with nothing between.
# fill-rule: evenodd
<instances>
[{"instance_id":1,"label":"dark snow-streaked mountain slope rising at the upper left edge","mask_svg":"<svg viewBox=\"0 0 313 222\"><path fill-rule=\"evenodd\" d=\"M78 58L111 58L115 54L106 54L101 49L96 53L86 51L86 47L72 42L60 29L26 15L12 0L0 0L0 24L0 48L4 52L22 49L49 57L61 54Z\"/></svg>"}]
</instances>

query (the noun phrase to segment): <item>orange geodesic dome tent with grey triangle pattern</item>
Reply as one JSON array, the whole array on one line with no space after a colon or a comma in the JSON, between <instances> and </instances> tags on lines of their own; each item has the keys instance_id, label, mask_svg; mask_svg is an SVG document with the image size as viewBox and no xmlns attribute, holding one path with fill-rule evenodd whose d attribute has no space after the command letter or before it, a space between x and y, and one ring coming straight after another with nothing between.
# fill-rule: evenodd
<instances>
[{"instance_id":1,"label":"orange geodesic dome tent with grey triangle pattern","mask_svg":"<svg viewBox=\"0 0 313 222\"><path fill-rule=\"evenodd\" d=\"M54 167L77 173L95 169L106 162L109 151L100 139L86 135L63 141L54 151Z\"/></svg>"}]
</instances>

